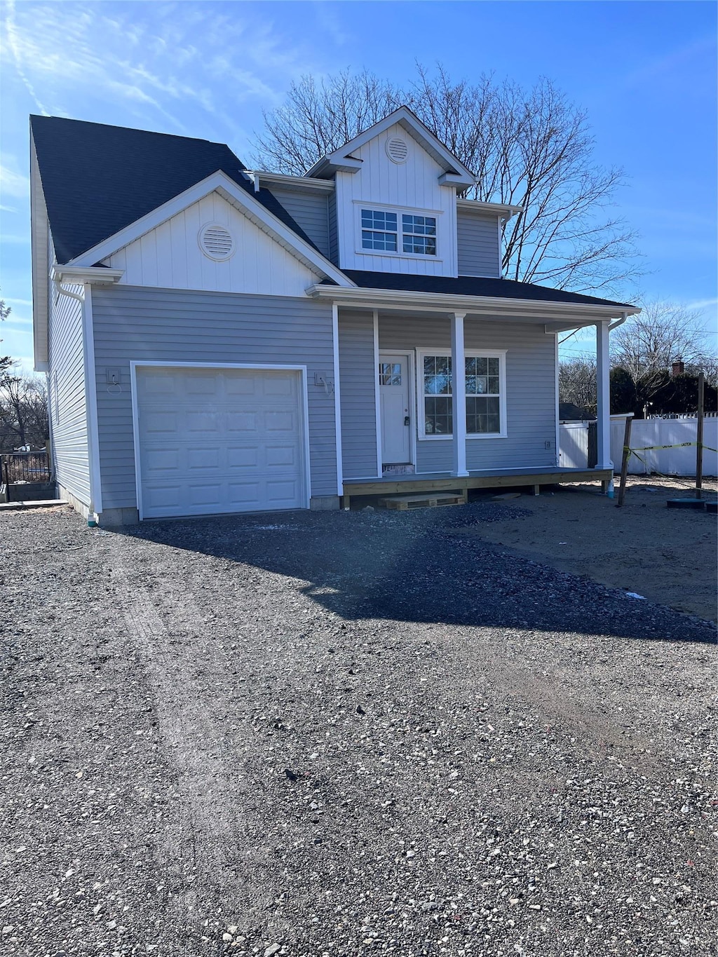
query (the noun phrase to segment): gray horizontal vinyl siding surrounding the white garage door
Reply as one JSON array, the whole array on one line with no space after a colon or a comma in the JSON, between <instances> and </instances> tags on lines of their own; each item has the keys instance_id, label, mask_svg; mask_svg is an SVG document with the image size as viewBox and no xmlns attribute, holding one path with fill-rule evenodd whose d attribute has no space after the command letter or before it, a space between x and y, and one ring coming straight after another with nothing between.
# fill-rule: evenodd
<instances>
[{"instance_id":1,"label":"gray horizontal vinyl siding surrounding the white garage door","mask_svg":"<svg viewBox=\"0 0 718 957\"><path fill-rule=\"evenodd\" d=\"M334 396L314 385L333 377L331 306L290 297L149 289L93 292L103 508L137 506L129 363L305 365L312 496L337 494ZM122 376L108 389L106 369Z\"/></svg>"}]
</instances>

